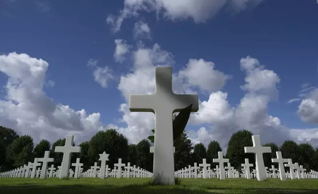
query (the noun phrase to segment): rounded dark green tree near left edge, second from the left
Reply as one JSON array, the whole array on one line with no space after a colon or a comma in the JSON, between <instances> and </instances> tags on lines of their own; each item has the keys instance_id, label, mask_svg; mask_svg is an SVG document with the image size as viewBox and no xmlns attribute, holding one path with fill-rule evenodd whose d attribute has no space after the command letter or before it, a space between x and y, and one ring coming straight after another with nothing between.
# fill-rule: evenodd
<instances>
[{"instance_id":1,"label":"rounded dark green tree near left edge, second from the left","mask_svg":"<svg viewBox=\"0 0 318 194\"><path fill-rule=\"evenodd\" d=\"M33 148L33 139L30 136L21 136L13 140L6 150L6 162L13 168L23 166L32 158Z\"/></svg>"}]
</instances>

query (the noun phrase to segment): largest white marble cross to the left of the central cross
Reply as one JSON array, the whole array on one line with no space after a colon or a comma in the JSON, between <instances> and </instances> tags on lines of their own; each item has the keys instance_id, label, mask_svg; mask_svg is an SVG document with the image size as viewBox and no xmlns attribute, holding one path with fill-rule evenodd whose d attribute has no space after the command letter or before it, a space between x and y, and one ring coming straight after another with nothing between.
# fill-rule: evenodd
<instances>
[{"instance_id":1,"label":"largest white marble cross to the left of the central cross","mask_svg":"<svg viewBox=\"0 0 318 194\"><path fill-rule=\"evenodd\" d=\"M79 153L81 148L78 146L73 146L74 136L67 135L65 139L64 146L56 146L55 152L63 152L63 159L61 164L61 171L60 171L60 179L64 177L69 177L69 170L71 165L71 154L72 153Z\"/></svg>"}]
</instances>

